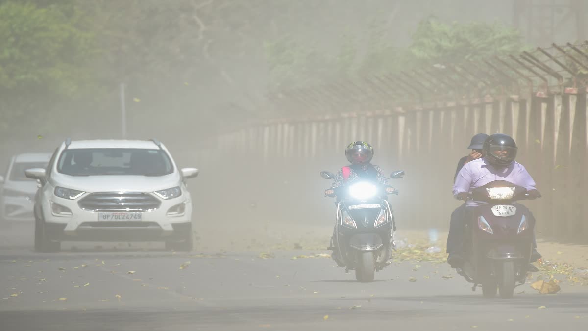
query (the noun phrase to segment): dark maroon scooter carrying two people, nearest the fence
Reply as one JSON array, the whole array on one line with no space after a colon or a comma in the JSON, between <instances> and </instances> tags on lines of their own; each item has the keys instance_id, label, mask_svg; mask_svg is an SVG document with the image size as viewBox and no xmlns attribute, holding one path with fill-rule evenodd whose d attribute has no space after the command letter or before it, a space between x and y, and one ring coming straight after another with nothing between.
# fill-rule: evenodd
<instances>
[{"instance_id":1,"label":"dark maroon scooter carrying two people, nearest the fence","mask_svg":"<svg viewBox=\"0 0 588 331\"><path fill-rule=\"evenodd\" d=\"M468 199L488 204L475 207L465 228L465 262L457 273L482 287L484 297L511 298L530 270L534 225L515 201L532 197L508 181L475 188Z\"/></svg>"}]
</instances>

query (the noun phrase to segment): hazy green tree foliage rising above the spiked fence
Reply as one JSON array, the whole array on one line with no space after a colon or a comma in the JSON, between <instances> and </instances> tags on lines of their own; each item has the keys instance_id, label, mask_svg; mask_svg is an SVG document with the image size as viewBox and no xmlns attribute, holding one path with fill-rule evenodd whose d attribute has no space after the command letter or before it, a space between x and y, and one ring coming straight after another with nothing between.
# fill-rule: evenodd
<instances>
[{"instance_id":1,"label":"hazy green tree foliage rising above the spiked fence","mask_svg":"<svg viewBox=\"0 0 588 331\"><path fill-rule=\"evenodd\" d=\"M408 48L395 44L384 21L373 21L365 31L345 34L339 52L335 53L321 52L317 45L302 45L289 38L266 42L273 78L271 88L302 87L359 74L513 54L523 49L519 32L504 25L447 24L433 17L420 22Z\"/></svg>"}]
</instances>

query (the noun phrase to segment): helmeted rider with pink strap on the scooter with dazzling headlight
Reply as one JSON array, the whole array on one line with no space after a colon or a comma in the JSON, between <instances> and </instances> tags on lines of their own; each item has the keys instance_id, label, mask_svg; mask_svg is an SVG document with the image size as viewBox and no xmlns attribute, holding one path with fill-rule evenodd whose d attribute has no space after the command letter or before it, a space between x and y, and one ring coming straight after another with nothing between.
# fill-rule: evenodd
<instances>
[{"instance_id":1,"label":"helmeted rider with pink strap on the scooter with dazzling headlight","mask_svg":"<svg viewBox=\"0 0 588 331\"><path fill-rule=\"evenodd\" d=\"M382 172L382 168L370 163L373 158L373 147L365 141L354 141L349 144L345 149L345 156L351 163L349 166L342 167L341 170L335 175L333 184L325 191L325 196L335 196L337 188L352 183L356 180L372 180L386 187L386 193L393 193L396 191L395 188L389 186L386 181L386 176ZM337 197L339 201L339 197ZM394 231L396 231L396 224L393 222ZM336 236L335 230L333 230L333 237ZM331 257L340 266L344 266L343 262L339 259L337 250L333 251Z\"/></svg>"}]
</instances>

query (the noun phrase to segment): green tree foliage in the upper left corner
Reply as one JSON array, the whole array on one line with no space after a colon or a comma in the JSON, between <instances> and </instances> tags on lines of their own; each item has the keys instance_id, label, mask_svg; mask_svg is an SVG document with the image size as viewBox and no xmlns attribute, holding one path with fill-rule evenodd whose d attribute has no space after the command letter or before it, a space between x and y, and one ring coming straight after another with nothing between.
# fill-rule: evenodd
<instances>
[{"instance_id":1,"label":"green tree foliage in the upper left corner","mask_svg":"<svg viewBox=\"0 0 588 331\"><path fill-rule=\"evenodd\" d=\"M0 121L85 92L98 49L83 12L29 2L0 4Z\"/></svg>"}]
</instances>

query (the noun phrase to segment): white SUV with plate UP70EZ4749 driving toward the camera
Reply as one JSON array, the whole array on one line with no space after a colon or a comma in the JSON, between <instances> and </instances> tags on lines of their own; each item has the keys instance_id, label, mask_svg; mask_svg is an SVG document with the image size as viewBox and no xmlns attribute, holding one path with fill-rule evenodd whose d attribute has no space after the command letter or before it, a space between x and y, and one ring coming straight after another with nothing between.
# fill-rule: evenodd
<instances>
[{"instance_id":1,"label":"white SUV with plate UP70EZ4749 driving toward the camera","mask_svg":"<svg viewBox=\"0 0 588 331\"><path fill-rule=\"evenodd\" d=\"M192 250L188 178L157 140L69 138L45 169L35 198L35 250L58 251L61 241L165 241Z\"/></svg>"}]
</instances>

